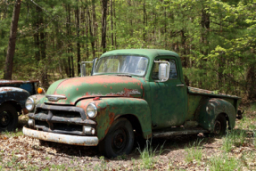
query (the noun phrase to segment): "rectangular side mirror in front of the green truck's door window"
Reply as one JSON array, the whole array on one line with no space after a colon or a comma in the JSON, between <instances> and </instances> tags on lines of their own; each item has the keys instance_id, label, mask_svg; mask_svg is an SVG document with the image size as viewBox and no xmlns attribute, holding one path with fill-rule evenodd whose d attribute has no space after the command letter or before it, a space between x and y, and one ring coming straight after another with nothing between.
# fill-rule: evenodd
<instances>
[{"instance_id":1,"label":"rectangular side mirror in front of the green truck's door window","mask_svg":"<svg viewBox=\"0 0 256 171\"><path fill-rule=\"evenodd\" d=\"M166 82L169 79L169 61L154 61L159 64L158 78L156 82Z\"/></svg>"}]
</instances>

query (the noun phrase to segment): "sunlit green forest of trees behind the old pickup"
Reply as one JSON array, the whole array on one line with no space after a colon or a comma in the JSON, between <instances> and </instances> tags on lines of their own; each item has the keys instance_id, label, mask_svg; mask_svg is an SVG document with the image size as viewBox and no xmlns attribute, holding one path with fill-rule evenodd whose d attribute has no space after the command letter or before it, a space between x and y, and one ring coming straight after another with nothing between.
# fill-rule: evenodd
<instances>
[{"instance_id":1,"label":"sunlit green forest of trees behind the old pickup","mask_svg":"<svg viewBox=\"0 0 256 171\"><path fill-rule=\"evenodd\" d=\"M0 78L17 1L0 1ZM186 85L256 99L256 0L20 1L12 79L47 88L106 51L155 48L181 56Z\"/></svg>"}]
</instances>

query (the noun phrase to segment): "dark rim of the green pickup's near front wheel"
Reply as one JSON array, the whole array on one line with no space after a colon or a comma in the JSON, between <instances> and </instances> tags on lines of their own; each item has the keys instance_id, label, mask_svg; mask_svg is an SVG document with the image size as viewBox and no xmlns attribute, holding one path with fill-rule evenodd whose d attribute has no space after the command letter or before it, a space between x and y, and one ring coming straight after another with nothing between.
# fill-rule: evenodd
<instances>
[{"instance_id":1,"label":"dark rim of the green pickup's near front wheel","mask_svg":"<svg viewBox=\"0 0 256 171\"><path fill-rule=\"evenodd\" d=\"M112 149L121 152L127 145L127 133L124 129L118 129L113 134Z\"/></svg>"}]
</instances>

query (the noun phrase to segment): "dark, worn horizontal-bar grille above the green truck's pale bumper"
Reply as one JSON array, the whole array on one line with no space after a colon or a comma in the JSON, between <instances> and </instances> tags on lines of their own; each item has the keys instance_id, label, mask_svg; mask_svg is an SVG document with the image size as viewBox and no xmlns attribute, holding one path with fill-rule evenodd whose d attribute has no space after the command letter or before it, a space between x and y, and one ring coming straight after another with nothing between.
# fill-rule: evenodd
<instances>
[{"instance_id":1,"label":"dark, worn horizontal-bar grille above the green truck's pale bumper","mask_svg":"<svg viewBox=\"0 0 256 171\"><path fill-rule=\"evenodd\" d=\"M83 126L96 126L94 120L87 119L85 110L76 106L37 104L29 118L35 119L34 128L58 134L85 135Z\"/></svg>"}]
</instances>

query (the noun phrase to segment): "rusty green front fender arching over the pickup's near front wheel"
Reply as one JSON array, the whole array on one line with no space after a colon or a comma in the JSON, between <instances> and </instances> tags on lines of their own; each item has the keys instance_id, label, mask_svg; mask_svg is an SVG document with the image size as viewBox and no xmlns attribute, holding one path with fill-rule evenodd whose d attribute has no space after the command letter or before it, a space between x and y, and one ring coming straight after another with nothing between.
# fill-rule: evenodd
<instances>
[{"instance_id":1,"label":"rusty green front fender arching over the pickup's near front wheel","mask_svg":"<svg viewBox=\"0 0 256 171\"><path fill-rule=\"evenodd\" d=\"M134 115L138 119L144 138L151 137L151 113L145 100L136 98L102 98L101 100L93 101L92 99L87 99L78 102L77 106L86 110L90 102L95 102L98 109L95 121L97 122L96 130L99 140L103 140L115 119L127 114Z\"/></svg>"}]
</instances>

